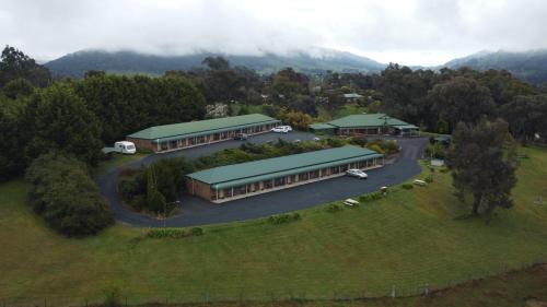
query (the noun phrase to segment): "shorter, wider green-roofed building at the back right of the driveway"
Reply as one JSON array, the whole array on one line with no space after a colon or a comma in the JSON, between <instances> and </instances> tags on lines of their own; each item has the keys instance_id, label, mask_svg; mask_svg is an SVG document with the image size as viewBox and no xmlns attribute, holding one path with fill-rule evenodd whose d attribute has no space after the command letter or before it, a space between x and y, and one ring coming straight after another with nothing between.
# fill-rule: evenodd
<instances>
[{"instance_id":1,"label":"shorter, wider green-roofed building at the back right of the driveway","mask_svg":"<svg viewBox=\"0 0 547 307\"><path fill-rule=\"evenodd\" d=\"M385 114L357 114L335 119L329 122L313 123L313 132L336 135L382 135L415 137L418 127Z\"/></svg>"}]
</instances>

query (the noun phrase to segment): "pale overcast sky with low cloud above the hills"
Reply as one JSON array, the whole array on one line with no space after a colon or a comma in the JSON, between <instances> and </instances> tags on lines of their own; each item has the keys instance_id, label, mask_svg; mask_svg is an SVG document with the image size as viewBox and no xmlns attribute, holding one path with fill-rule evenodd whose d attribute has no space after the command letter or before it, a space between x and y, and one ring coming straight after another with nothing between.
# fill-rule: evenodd
<instances>
[{"instance_id":1,"label":"pale overcast sky with low cloud above the hills","mask_svg":"<svg viewBox=\"0 0 547 307\"><path fill-rule=\"evenodd\" d=\"M287 54L326 47L440 64L547 47L547 0L2 0L0 44L51 60L81 49Z\"/></svg>"}]
</instances>

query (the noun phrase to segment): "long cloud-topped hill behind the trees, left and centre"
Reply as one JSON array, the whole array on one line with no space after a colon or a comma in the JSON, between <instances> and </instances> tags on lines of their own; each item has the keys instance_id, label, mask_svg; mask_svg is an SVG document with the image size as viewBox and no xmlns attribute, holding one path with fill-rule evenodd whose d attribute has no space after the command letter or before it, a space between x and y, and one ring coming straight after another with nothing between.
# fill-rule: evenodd
<instances>
[{"instance_id":1,"label":"long cloud-topped hill behind the trees, left and centre","mask_svg":"<svg viewBox=\"0 0 547 307\"><path fill-rule=\"evenodd\" d=\"M317 50L315 50L317 51ZM376 72L385 64L350 52L321 49L321 56L299 51L288 56L265 54L263 56L223 56L232 66L245 66L260 73L276 72L292 67L303 72L333 70L339 72ZM112 73L163 74L167 70L188 70L201 67L201 61L217 54L200 52L187 56L155 56L135 51L108 52L83 50L47 62L45 66L56 76L81 78L89 70Z\"/></svg>"}]
</instances>

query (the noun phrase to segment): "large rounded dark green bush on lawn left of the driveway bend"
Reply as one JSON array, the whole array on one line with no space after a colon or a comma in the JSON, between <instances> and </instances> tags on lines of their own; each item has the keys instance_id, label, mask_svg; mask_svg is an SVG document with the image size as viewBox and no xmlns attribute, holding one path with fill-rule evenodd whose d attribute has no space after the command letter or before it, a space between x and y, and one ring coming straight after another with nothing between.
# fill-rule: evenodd
<instances>
[{"instance_id":1,"label":"large rounded dark green bush on lawn left of the driveway bend","mask_svg":"<svg viewBox=\"0 0 547 307\"><path fill-rule=\"evenodd\" d=\"M26 172L32 184L30 203L54 229L66 236L89 236L114 222L85 164L62 155L45 154Z\"/></svg>"}]
</instances>

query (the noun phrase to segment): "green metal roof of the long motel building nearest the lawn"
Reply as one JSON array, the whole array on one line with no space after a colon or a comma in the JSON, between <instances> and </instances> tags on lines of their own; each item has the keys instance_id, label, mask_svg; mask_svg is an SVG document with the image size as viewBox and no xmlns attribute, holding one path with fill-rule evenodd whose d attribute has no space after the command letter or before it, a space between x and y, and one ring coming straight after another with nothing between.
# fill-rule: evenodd
<instances>
[{"instance_id":1,"label":"green metal roof of the long motel building nearest the lawn","mask_svg":"<svg viewBox=\"0 0 547 307\"><path fill-rule=\"evenodd\" d=\"M220 166L189 174L188 177L222 189L382 156L368 149L348 145Z\"/></svg>"}]
</instances>

